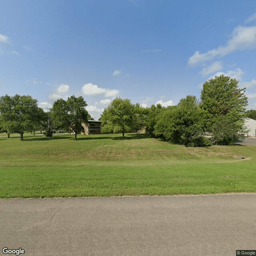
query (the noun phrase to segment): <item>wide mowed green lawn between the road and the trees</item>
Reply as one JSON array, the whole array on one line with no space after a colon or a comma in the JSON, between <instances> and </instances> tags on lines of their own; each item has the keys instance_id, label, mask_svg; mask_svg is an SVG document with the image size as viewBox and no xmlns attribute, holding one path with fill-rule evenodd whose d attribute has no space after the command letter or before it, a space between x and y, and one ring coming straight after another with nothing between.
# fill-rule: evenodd
<instances>
[{"instance_id":1,"label":"wide mowed green lawn between the road and the trees","mask_svg":"<svg viewBox=\"0 0 256 256\"><path fill-rule=\"evenodd\" d=\"M0 147L0 198L256 192L255 146L186 148L145 134L77 141L0 134Z\"/></svg>"}]
</instances>

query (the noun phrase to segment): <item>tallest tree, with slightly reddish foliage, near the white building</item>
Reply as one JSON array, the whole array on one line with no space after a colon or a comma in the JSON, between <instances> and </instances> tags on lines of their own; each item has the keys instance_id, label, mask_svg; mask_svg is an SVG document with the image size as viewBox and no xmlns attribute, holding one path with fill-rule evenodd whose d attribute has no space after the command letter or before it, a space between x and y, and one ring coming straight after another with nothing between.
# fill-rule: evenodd
<instances>
[{"instance_id":1,"label":"tallest tree, with slightly reddish foliage, near the white building","mask_svg":"<svg viewBox=\"0 0 256 256\"><path fill-rule=\"evenodd\" d=\"M248 98L244 95L245 89L238 87L238 80L224 75L215 76L203 84L200 106L206 110L205 128L212 133L213 143L234 144L234 139L237 138L236 134L243 130L245 111L248 105ZM234 126L230 130L231 123ZM217 127L219 128L217 129ZM217 136L215 133L220 131L223 134L228 134L228 132L232 134L228 137ZM220 138L223 138L222 142Z\"/></svg>"}]
</instances>

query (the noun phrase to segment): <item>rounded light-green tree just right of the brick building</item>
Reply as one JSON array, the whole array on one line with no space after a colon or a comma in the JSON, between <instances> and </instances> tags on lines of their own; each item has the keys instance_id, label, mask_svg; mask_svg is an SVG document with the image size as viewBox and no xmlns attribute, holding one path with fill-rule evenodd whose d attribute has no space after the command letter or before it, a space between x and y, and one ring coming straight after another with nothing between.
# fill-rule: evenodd
<instances>
[{"instance_id":1,"label":"rounded light-green tree just right of the brick building","mask_svg":"<svg viewBox=\"0 0 256 256\"><path fill-rule=\"evenodd\" d=\"M128 99L115 98L101 114L101 131L103 133L132 129L134 120L134 105Z\"/></svg>"}]
</instances>

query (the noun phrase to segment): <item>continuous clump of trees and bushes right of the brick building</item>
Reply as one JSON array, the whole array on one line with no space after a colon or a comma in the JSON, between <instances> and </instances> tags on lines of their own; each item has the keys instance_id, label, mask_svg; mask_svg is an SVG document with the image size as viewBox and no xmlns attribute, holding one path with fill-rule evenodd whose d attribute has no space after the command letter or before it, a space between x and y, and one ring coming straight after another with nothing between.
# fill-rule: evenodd
<instances>
[{"instance_id":1,"label":"continuous clump of trees and bushes right of the brick building","mask_svg":"<svg viewBox=\"0 0 256 256\"><path fill-rule=\"evenodd\" d=\"M126 130L145 128L152 137L185 146L232 145L244 137L245 89L236 79L220 75L203 84L200 101L188 95L176 106L143 108L116 98L101 115L101 130L121 130L124 137ZM211 135L210 140L204 134Z\"/></svg>"}]
</instances>

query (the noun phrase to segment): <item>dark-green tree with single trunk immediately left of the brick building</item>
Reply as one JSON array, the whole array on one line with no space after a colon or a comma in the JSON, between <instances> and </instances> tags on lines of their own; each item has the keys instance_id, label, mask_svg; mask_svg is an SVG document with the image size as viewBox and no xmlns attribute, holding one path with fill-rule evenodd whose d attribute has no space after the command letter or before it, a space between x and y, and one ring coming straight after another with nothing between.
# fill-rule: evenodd
<instances>
[{"instance_id":1,"label":"dark-green tree with single trunk immediately left of the brick building","mask_svg":"<svg viewBox=\"0 0 256 256\"><path fill-rule=\"evenodd\" d=\"M72 95L66 101L58 99L50 110L52 123L55 127L60 127L63 130L74 131L76 140L77 133L84 132L82 123L88 122L86 106L86 101L82 96L76 98Z\"/></svg>"}]
</instances>

